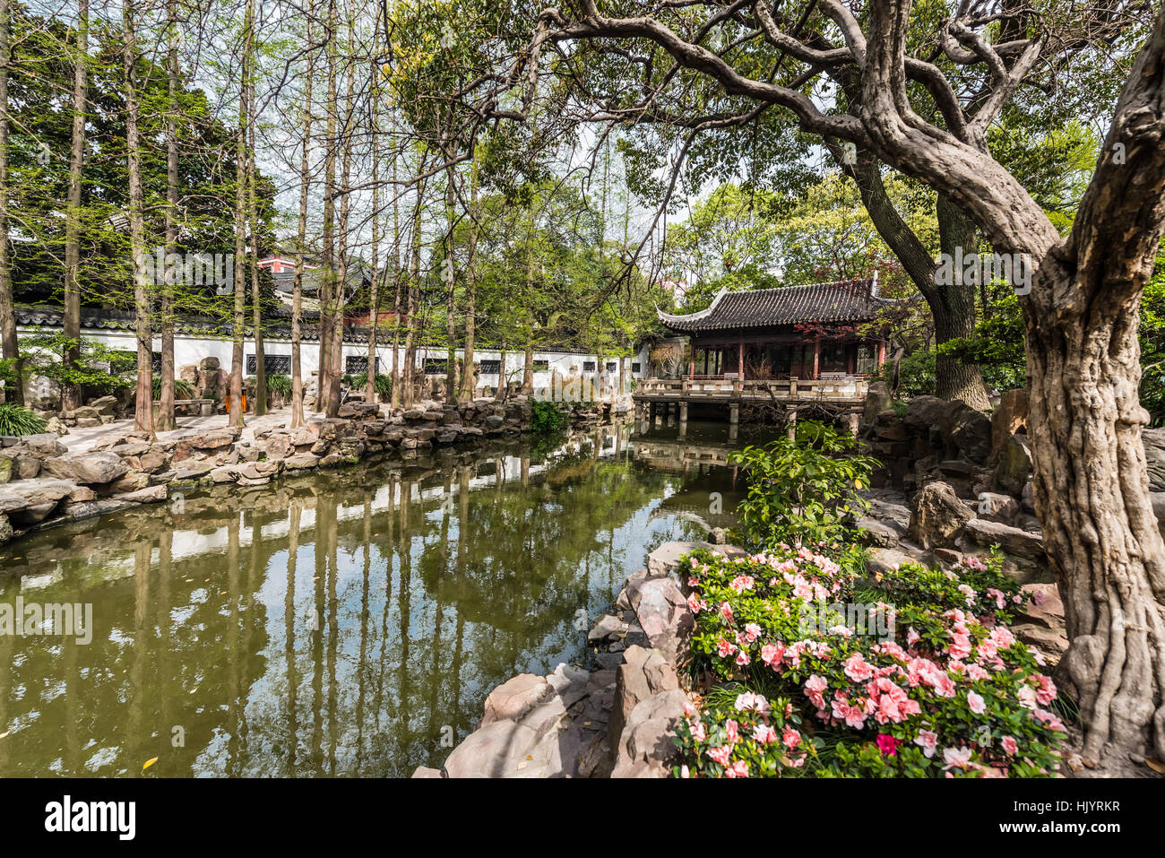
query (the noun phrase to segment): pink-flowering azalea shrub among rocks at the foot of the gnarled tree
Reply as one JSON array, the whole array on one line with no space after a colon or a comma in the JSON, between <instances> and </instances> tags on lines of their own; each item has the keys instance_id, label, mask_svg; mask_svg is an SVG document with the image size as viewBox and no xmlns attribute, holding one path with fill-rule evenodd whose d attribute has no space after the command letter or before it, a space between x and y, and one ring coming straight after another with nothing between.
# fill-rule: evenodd
<instances>
[{"instance_id":1,"label":"pink-flowering azalea shrub among rocks at the foot of the gnarled tree","mask_svg":"<svg viewBox=\"0 0 1165 858\"><path fill-rule=\"evenodd\" d=\"M870 607L892 623L866 630L839 610L854 599L855 577L817 551L697 551L689 564L694 666L742 691L680 724L682 774L1054 771L1064 731L1048 709L1055 685L1040 653L1000 621L1019 595L997 561L968 558L953 577L917 565L885 575L878 584L896 604Z\"/></svg>"}]
</instances>

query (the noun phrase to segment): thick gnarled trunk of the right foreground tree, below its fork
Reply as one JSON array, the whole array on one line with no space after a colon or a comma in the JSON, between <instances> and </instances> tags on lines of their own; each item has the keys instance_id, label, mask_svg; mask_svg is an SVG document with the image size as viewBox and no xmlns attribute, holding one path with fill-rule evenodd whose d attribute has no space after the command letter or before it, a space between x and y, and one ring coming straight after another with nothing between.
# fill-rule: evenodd
<instances>
[{"instance_id":1,"label":"thick gnarled trunk of the right foreground tree, below its fork","mask_svg":"<svg viewBox=\"0 0 1165 858\"><path fill-rule=\"evenodd\" d=\"M1050 267L1051 288L1078 286ZM1149 415L1132 307L1107 321L1028 315L1036 504L1071 641L1060 676L1078 696L1092 761L1107 743L1151 741L1165 759L1165 547L1141 444Z\"/></svg>"}]
</instances>

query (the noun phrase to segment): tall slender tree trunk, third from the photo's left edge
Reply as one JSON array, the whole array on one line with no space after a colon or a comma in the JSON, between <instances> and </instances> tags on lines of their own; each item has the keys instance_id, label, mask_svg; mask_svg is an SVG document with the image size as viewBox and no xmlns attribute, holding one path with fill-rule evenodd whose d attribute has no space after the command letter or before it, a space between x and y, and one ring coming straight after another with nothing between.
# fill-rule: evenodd
<instances>
[{"instance_id":1,"label":"tall slender tree trunk, third from the photo's left edge","mask_svg":"<svg viewBox=\"0 0 1165 858\"><path fill-rule=\"evenodd\" d=\"M141 139L137 133L137 23L130 0L121 7L122 85L126 92L126 160L129 182L129 254L134 266L134 330L137 336L137 389L134 400L134 431L154 437L154 329L150 324L150 289L136 261L146 253L144 195L142 189Z\"/></svg>"}]
</instances>

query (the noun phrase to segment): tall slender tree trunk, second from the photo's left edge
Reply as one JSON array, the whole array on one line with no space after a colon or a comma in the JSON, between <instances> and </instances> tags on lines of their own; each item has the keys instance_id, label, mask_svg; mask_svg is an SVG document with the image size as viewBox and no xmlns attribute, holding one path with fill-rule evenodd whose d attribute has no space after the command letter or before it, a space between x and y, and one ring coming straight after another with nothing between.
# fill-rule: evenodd
<instances>
[{"instance_id":1,"label":"tall slender tree trunk, second from the photo's left edge","mask_svg":"<svg viewBox=\"0 0 1165 858\"><path fill-rule=\"evenodd\" d=\"M5 0L7 1L7 0ZM77 42L73 58L73 115L69 145L69 196L65 202L65 288L63 330L65 366L80 363L80 201L85 169L85 100L89 97L89 0L77 3ZM79 385L61 388L61 407L82 406Z\"/></svg>"}]
</instances>

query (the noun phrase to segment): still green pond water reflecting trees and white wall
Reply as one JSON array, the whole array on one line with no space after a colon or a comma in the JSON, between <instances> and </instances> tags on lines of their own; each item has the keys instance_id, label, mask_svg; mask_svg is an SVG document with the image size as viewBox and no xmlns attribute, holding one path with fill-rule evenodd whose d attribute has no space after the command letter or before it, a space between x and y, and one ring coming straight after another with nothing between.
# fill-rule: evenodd
<instances>
[{"instance_id":1,"label":"still green pond water reflecting trees and white wall","mask_svg":"<svg viewBox=\"0 0 1165 858\"><path fill-rule=\"evenodd\" d=\"M0 776L439 767L495 685L588 657L580 617L648 551L729 523L725 436L499 441L5 546L0 609L92 628L0 634Z\"/></svg>"}]
</instances>

